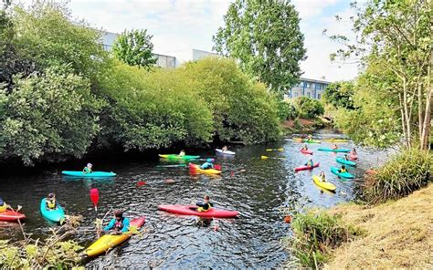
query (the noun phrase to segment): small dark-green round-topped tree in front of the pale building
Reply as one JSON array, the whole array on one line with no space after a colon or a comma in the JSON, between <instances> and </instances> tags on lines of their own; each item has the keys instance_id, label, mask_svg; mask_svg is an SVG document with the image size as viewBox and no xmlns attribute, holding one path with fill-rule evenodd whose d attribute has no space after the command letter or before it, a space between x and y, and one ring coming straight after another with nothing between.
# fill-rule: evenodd
<instances>
[{"instance_id":1,"label":"small dark-green round-topped tree in front of the pale building","mask_svg":"<svg viewBox=\"0 0 433 270\"><path fill-rule=\"evenodd\" d=\"M112 52L115 57L130 66L149 70L157 60L152 53L152 37L147 35L146 29L125 30L114 42Z\"/></svg>"}]
</instances>

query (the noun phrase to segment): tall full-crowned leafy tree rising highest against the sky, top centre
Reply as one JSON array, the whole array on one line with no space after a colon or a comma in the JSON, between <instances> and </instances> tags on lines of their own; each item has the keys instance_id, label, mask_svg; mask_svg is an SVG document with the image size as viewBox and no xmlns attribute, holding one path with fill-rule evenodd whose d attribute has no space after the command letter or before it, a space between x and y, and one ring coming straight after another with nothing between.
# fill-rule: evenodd
<instances>
[{"instance_id":1,"label":"tall full-crowned leafy tree rising highest against the sky, top centre","mask_svg":"<svg viewBox=\"0 0 433 270\"><path fill-rule=\"evenodd\" d=\"M276 92L298 82L306 50L290 1L237 0L224 21L213 36L218 53L239 59L243 71Z\"/></svg>"}]
</instances>

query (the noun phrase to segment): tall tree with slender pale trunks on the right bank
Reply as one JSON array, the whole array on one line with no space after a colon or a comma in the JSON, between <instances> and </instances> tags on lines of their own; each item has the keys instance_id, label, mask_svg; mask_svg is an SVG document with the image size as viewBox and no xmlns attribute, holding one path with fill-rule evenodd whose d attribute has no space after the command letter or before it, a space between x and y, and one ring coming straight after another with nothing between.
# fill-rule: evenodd
<instances>
[{"instance_id":1,"label":"tall tree with slender pale trunks on the right bank","mask_svg":"<svg viewBox=\"0 0 433 270\"><path fill-rule=\"evenodd\" d=\"M408 148L428 149L431 121L432 5L431 1L368 1L358 12L351 44L346 36L332 36L347 45L334 54L365 55L365 66L380 65L395 78L387 91L398 98L401 130ZM377 89L382 84L378 82ZM419 142L419 143L417 143Z\"/></svg>"}]
</instances>

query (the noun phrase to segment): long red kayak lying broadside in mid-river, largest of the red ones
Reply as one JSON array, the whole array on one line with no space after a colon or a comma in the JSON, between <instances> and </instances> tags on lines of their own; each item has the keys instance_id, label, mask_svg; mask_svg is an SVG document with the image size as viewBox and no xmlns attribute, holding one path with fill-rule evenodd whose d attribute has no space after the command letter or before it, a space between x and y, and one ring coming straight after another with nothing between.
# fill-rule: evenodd
<instances>
[{"instance_id":1,"label":"long red kayak lying broadside in mid-river, largest of the red ones","mask_svg":"<svg viewBox=\"0 0 433 270\"><path fill-rule=\"evenodd\" d=\"M211 208L206 212L197 212L197 206L195 205L182 205L182 204L163 204L158 205L159 210L163 210L169 213L179 213L185 215L196 215L200 217L220 217L220 218L230 218L236 217L239 213L238 211L230 211L218 208Z\"/></svg>"}]
</instances>

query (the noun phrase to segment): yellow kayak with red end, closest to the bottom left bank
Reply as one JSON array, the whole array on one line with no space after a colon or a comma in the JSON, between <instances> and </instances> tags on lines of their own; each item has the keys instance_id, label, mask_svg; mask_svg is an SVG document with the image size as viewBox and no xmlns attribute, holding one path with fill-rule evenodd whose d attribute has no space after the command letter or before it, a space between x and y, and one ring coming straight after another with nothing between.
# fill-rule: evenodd
<instances>
[{"instance_id":1,"label":"yellow kayak with red end, closest to the bottom left bank","mask_svg":"<svg viewBox=\"0 0 433 270\"><path fill-rule=\"evenodd\" d=\"M133 226L137 229L140 229L144 224L144 216L141 218L133 219L130 223L130 227ZM131 231L131 229L130 229ZM90 244L88 248L84 251L90 257L97 256L100 254L107 253L111 248L122 244L126 240L131 238L131 234L119 234L119 235L111 235L104 234L100 237L100 239Z\"/></svg>"}]
</instances>

